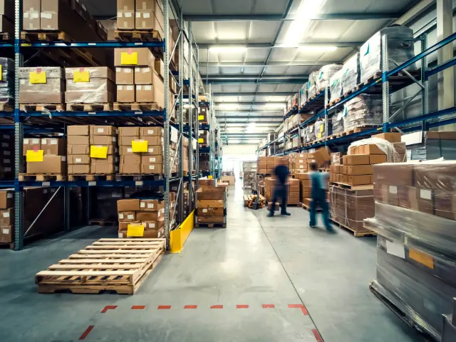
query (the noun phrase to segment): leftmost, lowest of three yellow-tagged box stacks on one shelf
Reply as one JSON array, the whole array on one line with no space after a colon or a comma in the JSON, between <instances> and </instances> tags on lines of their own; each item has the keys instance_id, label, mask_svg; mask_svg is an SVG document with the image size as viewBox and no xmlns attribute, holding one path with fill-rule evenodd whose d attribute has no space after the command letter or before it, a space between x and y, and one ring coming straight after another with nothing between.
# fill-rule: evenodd
<instances>
[{"instance_id":1,"label":"leftmost, lowest of three yellow-tagged box stacks on one shelf","mask_svg":"<svg viewBox=\"0 0 456 342\"><path fill-rule=\"evenodd\" d=\"M66 145L63 139L24 139L23 143L27 174L66 175Z\"/></svg>"}]
</instances>

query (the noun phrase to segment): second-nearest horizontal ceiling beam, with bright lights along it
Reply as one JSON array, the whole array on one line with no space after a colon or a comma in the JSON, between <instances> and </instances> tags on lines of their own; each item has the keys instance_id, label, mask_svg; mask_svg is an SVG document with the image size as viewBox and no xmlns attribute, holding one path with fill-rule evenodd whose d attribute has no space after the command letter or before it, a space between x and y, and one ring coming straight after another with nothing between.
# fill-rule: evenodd
<instances>
[{"instance_id":1,"label":"second-nearest horizontal ceiling beam, with bright lights along it","mask_svg":"<svg viewBox=\"0 0 456 342\"><path fill-rule=\"evenodd\" d=\"M336 46L338 48L351 48L356 46L361 46L364 41L313 41L306 44L274 44L271 46L271 43L239 43L238 42L224 42L224 43L206 43L198 44L199 49L211 49L211 48L223 48L228 49L230 47L239 48L239 46L248 49L297 49L297 48L306 48L311 46L313 48L325 47L325 46Z\"/></svg>"}]
</instances>

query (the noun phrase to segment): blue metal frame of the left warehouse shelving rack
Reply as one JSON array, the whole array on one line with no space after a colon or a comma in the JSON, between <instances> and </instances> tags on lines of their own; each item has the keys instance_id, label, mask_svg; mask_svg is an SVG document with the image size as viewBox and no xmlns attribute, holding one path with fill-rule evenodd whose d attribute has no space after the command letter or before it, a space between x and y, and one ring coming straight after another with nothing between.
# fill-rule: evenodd
<instances>
[{"instance_id":1,"label":"blue metal frame of the left warehouse shelving rack","mask_svg":"<svg viewBox=\"0 0 456 342\"><path fill-rule=\"evenodd\" d=\"M178 183L178 191L177 191L177 203L180 208L178 213L178 221L183 221L183 183L188 182L190 184L190 209L195 208L195 189L192 188L192 181L196 178L193 175L193 164L192 160L194 159L193 151L192 151L192 141L194 136L197 134L198 129L198 104L195 103L195 106L190 106L189 109L189 123L188 125L184 125L183 119L183 106L179 106L177 109L177 101L174 101L173 108L167 108L168 104L170 103L170 93L167 91L167 87L169 84L169 78L175 77L172 75L170 71L170 56L174 53L174 51L170 51L170 45L168 42L169 39L169 27L170 27L170 11L173 12L175 18L177 19L177 26L179 29L179 39L176 41L176 46L179 47L179 54L180 54L180 61L184 61L184 40L189 42L189 58L188 63L189 67L189 79L184 80L182 72L178 73L178 84L180 86L180 93L176 96L180 100L180 104L183 103L183 84L188 84L189 86L189 94L192 94L192 61L196 61L196 65L198 68L198 47L196 41L192 34L192 26L191 23L188 25L188 29L185 30L184 21L182 19L182 11L181 9L175 9L172 4L170 4L170 0L163 0L163 15L165 18L164 23L164 31L165 37L163 41L145 41L145 42L121 42L121 41L105 41L105 42L46 42L46 43L25 43L21 41L21 1L15 0L15 25L14 25L14 44L1 44L0 47L4 48L14 48L14 57L15 57L15 103L14 103L14 112L13 113L0 113L0 117L14 119L14 154L15 154L15 178L14 181L0 181L1 188L12 188L14 187L15 190L15 234L14 234L14 249L21 250L24 247L24 237L26 236L26 232L24 232L23 226L23 214L24 214L24 187L26 186L46 186L46 187L57 187L58 191L63 188L65 191L65 201L64 201L64 208L65 208L65 224L64 224L64 231L70 230L70 222L69 222L69 213L70 213L70 203L69 203L69 188L72 187L88 187L89 189L93 186L97 187L124 187L124 186L163 186L165 191L165 231L167 236L167 242L169 246L169 237L170 237L170 230L175 226L175 211L172 212L170 216L170 183ZM195 49L194 49L195 46ZM23 55L22 49L78 49L78 48L124 48L124 47L147 47L147 48L155 48L155 49L162 49L164 55L164 64L165 70L168 72L165 73L164 77L164 85L165 85L165 109L163 111L152 111L152 112L135 112L135 111L123 111L123 112L113 112L113 111L106 111L106 112L51 112L44 115L41 112L28 112L24 113L19 110L19 67L23 65ZM175 48L176 49L176 48ZM198 73L197 69L197 73ZM197 76L197 75L195 75ZM198 94L198 88L196 91L196 99ZM170 117L172 116L173 111L178 111L177 114L177 125L170 124ZM24 134L27 134L28 126L24 124L24 119L33 119L39 117L40 119L48 118L49 122L52 122L52 119L63 120L68 119L70 117L78 117L80 119L85 118L86 123L93 124L93 118L97 119L116 119L116 124L118 124L118 119L135 119L138 117L141 118L154 118L161 122L160 126L163 126L165 129L165 156L169 156L170 153L170 129L172 126L179 131L179 141L178 141L178 148L177 148L177 157L179 158L179 172L177 173L177 177L171 178L170 169L172 163L170 159L165 158L165 174L162 178L158 178L155 180L144 180L144 181L49 181L49 182L36 182L36 181L19 181L19 173L23 170L23 157L22 157L22 141L24 139ZM99 121L98 121L99 122ZM50 131L46 131L46 125L41 124L38 127L38 130L34 130L33 133L40 133L44 131L49 133ZM120 126L120 125L118 125ZM11 126L10 129L13 127ZM36 127L33 126L33 129ZM63 129L66 131L66 124L63 124ZM183 173L183 141L182 136L189 137L189 173L188 176L184 177ZM198 144L196 144L198 145ZM196 159L196 170L199 169L198 166L198 159ZM197 183L197 182L196 182ZM56 193L58 192L56 191ZM50 203L50 201L48 201ZM46 203L46 206L48 206ZM45 208L46 208L45 206ZM191 211L190 210L190 211Z\"/></svg>"}]
</instances>

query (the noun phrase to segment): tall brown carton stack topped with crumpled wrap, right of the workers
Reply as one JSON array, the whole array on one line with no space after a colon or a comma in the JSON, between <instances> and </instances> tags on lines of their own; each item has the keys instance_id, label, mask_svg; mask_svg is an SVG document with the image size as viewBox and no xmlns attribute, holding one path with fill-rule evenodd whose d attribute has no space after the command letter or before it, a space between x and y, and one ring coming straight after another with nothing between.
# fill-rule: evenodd
<instances>
[{"instance_id":1,"label":"tall brown carton stack topped with crumpled wrap, right of the workers","mask_svg":"<svg viewBox=\"0 0 456 342\"><path fill-rule=\"evenodd\" d=\"M405 159L405 143L400 142L400 137L400 133L378 134L351 144L345 156L341 153L331 156L331 219L353 231L355 236L372 233L363 226L363 219L374 213L373 168L376 164Z\"/></svg>"}]
</instances>

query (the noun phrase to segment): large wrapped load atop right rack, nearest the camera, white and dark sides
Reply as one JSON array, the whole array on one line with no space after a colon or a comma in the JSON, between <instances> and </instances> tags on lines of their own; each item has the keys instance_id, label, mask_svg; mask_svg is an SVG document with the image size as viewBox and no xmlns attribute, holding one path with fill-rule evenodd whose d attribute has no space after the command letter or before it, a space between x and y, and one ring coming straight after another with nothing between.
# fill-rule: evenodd
<instances>
[{"instance_id":1,"label":"large wrapped load atop right rack, nearest the camera, white and dark sides","mask_svg":"<svg viewBox=\"0 0 456 342\"><path fill-rule=\"evenodd\" d=\"M415 56L413 30L405 26L387 27L374 34L360 49L360 81L382 72L382 40L388 39L388 71ZM405 68L414 70L415 64Z\"/></svg>"}]
</instances>

